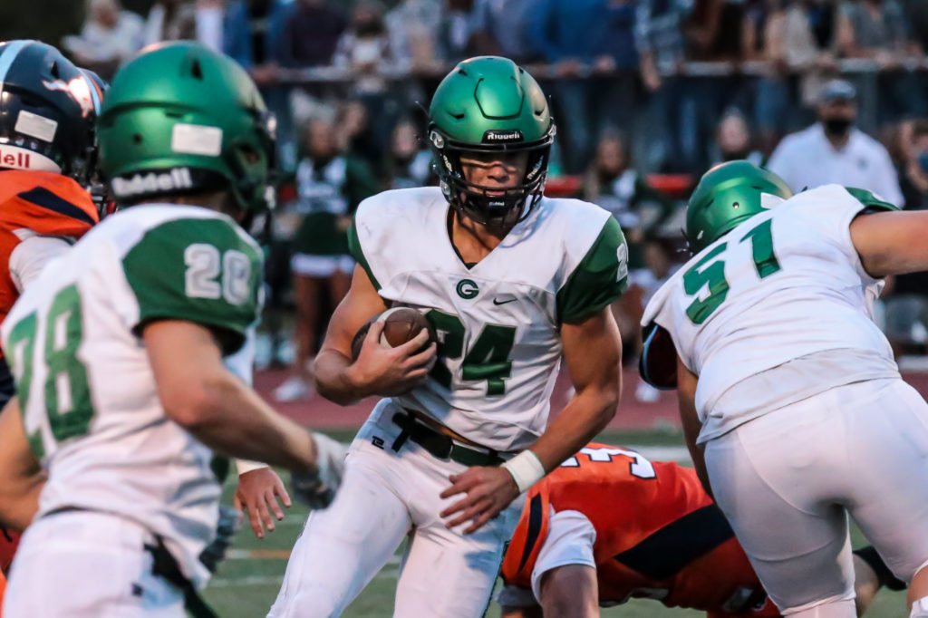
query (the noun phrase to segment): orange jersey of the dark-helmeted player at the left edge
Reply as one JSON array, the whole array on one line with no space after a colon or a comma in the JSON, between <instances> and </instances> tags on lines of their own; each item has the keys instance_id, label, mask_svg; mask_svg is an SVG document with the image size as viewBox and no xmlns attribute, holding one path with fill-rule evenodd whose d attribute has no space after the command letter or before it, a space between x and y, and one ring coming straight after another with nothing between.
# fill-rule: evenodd
<instances>
[{"instance_id":1,"label":"orange jersey of the dark-helmeted player at the left edge","mask_svg":"<svg viewBox=\"0 0 928 618\"><path fill-rule=\"evenodd\" d=\"M19 292L9 257L31 232L81 238L99 222L90 194L74 180L49 172L0 171L0 322Z\"/></svg>"}]
</instances>

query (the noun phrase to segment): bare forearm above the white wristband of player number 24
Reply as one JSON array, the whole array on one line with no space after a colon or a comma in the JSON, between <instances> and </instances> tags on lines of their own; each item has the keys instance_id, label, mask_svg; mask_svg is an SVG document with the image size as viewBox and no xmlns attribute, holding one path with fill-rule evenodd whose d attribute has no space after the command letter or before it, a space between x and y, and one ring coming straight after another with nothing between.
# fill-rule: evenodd
<instances>
[{"instance_id":1,"label":"bare forearm above the white wristband of player number 24","mask_svg":"<svg viewBox=\"0 0 928 618\"><path fill-rule=\"evenodd\" d=\"M617 377L614 384L588 387L574 394L531 447L546 472L560 466L606 428L615 416L621 387L621 377Z\"/></svg>"}]
</instances>

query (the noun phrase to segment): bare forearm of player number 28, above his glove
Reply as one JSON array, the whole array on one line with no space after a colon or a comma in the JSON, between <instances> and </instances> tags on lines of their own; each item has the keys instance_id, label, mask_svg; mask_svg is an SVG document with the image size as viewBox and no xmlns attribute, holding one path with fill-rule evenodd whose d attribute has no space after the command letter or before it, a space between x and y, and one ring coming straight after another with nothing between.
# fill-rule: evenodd
<instances>
[{"instance_id":1,"label":"bare forearm of player number 28, above his glove","mask_svg":"<svg viewBox=\"0 0 928 618\"><path fill-rule=\"evenodd\" d=\"M182 422L201 443L229 457L315 469L309 431L278 415L231 374L209 380L203 390L201 403Z\"/></svg>"}]
</instances>

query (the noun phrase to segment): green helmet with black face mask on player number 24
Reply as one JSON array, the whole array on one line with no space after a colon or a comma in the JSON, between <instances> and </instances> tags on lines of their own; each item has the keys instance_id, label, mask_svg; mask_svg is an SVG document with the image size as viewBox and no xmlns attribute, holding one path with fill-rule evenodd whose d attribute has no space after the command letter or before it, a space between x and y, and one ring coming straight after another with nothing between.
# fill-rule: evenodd
<instances>
[{"instance_id":1,"label":"green helmet with black face mask on player number 24","mask_svg":"<svg viewBox=\"0 0 928 618\"><path fill-rule=\"evenodd\" d=\"M458 63L435 90L428 133L445 199L470 219L515 223L541 200L555 126L545 93L512 60L484 56ZM476 185L464 175L461 157L516 152L528 153L525 175L502 195L499 187Z\"/></svg>"}]
</instances>

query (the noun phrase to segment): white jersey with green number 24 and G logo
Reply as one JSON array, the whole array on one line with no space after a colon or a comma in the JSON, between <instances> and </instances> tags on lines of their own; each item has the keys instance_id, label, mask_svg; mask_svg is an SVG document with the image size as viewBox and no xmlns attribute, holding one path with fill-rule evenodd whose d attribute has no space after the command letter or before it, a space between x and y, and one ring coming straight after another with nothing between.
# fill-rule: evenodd
<instances>
[{"instance_id":1,"label":"white jersey with green number 24 and G logo","mask_svg":"<svg viewBox=\"0 0 928 618\"><path fill-rule=\"evenodd\" d=\"M546 198L468 268L448 209L438 187L386 191L361 203L349 234L380 296L424 312L438 332L431 379L393 402L496 450L524 448L548 423L561 324L625 290L625 238L598 206Z\"/></svg>"}]
</instances>

